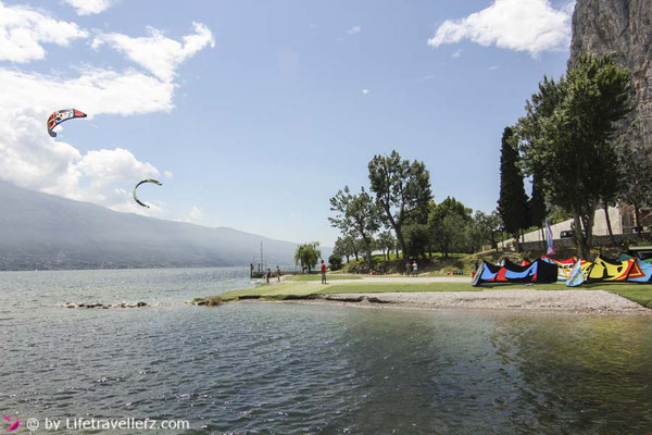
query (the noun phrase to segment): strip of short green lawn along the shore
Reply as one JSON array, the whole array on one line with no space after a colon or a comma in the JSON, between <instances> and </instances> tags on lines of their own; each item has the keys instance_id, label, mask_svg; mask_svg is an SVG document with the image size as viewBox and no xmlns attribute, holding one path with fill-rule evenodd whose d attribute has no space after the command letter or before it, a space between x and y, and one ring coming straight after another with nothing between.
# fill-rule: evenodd
<instances>
[{"instance_id":1,"label":"strip of short green lawn along the shore","mask_svg":"<svg viewBox=\"0 0 652 435\"><path fill-rule=\"evenodd\" d=\"M298 276L299 277L299 276ZM302 276L303 277L303 276ZM317 276L318 277L318 276ZM342 278L344 278L342 276ZM222 300L230 301L238 298L260 297L262 299L288 299L304 297L312 294L354 294L354 293L411 293L411 291L481 291L482 289L535 289L560 290L569 289L563 283L538 284L527 286L524 284L486 285L472 287L469 283L333 283L327 285L313 284L302 281L287 282L278 285L264 285L243 290L233 290L220 295ZM597 283L575 287L578 290L605 290L640 303L652 309L652 285L626 283Z\"/></svg>"}]
</instances>

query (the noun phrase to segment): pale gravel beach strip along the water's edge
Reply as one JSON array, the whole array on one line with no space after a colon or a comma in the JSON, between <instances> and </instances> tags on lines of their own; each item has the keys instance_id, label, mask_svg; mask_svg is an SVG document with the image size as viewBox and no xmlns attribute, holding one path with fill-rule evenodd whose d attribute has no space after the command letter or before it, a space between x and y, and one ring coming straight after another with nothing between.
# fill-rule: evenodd
<instances>
[{"instance_id":1,"label":"pale gravel beach strip along the water's edge","mask_svg":"<svg viewBox=\"0 0 652 435\"><path fill-rule=\"evenodd\" d=\"M651 315L649 310L603 290L485 290L317 295L292 303L346 304L421 310L489 310L550 313Z\"/></svg>"}]
</instances>

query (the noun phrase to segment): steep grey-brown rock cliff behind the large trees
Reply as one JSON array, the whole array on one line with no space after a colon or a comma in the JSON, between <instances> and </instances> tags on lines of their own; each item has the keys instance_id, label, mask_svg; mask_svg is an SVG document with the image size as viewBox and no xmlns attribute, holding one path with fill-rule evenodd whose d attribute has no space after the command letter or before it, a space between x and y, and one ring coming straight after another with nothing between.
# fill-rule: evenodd
<instances>
[{"instance_id":1,"label":"steep grey-brown rock cliff behind the large trees","mask_svg":"<svg viewBox=\"0 0 652 435\"><path fill-rule=\"evenodd\" d=\"M623 132L652 152L652 0L577 0L569 64L582 52L612 54L631 72L634 110Z\"/></svg>"}]
</instances>

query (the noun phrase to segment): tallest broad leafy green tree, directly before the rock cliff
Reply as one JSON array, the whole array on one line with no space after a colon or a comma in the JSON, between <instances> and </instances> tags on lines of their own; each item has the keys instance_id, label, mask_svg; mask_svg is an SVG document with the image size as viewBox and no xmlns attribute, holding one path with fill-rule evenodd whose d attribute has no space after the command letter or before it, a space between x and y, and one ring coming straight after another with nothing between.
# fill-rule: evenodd
<instances>
[{"instance_id":1,"label":"tallest broad leafy green tree, directly before the rock cliff","mask_svg":"<svg viewBox=\"0 0 652 435\"><path fill-rule=\"evenodd\" d=\"M613 59L582 54L565 77L539 85L519 120L526 173L540 174L550 201L573 215L582 258L592 245L595 210L613 197L612 139L629 111L629 72Z\"/></svg>"}]
</instances>

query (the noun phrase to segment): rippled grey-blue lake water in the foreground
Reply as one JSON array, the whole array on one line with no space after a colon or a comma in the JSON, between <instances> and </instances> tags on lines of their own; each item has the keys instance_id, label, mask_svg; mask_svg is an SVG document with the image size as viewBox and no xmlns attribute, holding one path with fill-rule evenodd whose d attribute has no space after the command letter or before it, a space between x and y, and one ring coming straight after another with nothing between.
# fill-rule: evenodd
<instances>
[{"instance_id":1,"label":"rippled grey-blue lake water in the foreground","mask_svg":"<svg viewBox=\"0 0 652 435\"><path fill-rule=\"evenodd\" d=\"M652 432L650 318L184 303L250 285L237 269L0 273L0 414L21 433ZM123 300L159 304L60 307Z\"/></svg>"}]
</instances>

